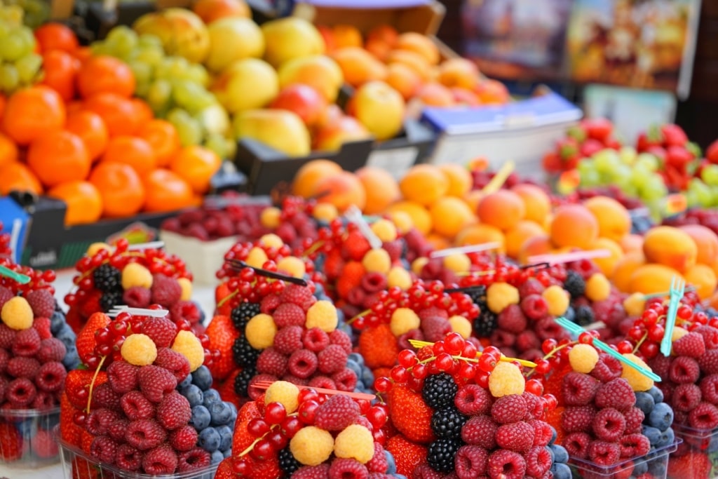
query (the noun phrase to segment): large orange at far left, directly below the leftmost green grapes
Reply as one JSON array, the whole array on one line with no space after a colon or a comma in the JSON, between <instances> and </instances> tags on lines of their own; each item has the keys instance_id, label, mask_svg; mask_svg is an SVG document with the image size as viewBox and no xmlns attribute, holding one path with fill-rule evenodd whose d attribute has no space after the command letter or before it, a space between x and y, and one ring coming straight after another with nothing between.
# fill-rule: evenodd
<instances>
[{"instance_id":1,"label":"large orange at far left, directly below the leftmost green grapes","mask_svg":"<svg viewBox=\"0 0 718 479\"><path fill-rule=\"evenodd\" d=\"M26 145L65 124L65 103L52 88L32 86L15 92L7 101L2 129L17 144Z\"/></svg>"}]
</instances>

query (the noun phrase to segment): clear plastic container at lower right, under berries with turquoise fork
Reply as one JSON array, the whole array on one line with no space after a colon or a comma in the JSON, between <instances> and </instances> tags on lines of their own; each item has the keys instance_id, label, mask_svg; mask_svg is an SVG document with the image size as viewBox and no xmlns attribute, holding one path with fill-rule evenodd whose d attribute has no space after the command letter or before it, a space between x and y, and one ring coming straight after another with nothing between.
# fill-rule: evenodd
<instances>
[{"instance_id":1,"label":"clear plastic container at lower right, under berries with turquoise fork","mask_svg":"<svg viewBox=\"0 0 718 479\"><path fill-rule=\"evenodd\" d=\"M652 450L648 455L633 457L609 466L599 465L577 457L569 457L569 467L572 470L574 479L629 478L636 475L637 469L647 470L655 479L666 479L668 455L674 452L680 443L681 440L676 440L673 444Z\"/></svg>"}]
</instances>

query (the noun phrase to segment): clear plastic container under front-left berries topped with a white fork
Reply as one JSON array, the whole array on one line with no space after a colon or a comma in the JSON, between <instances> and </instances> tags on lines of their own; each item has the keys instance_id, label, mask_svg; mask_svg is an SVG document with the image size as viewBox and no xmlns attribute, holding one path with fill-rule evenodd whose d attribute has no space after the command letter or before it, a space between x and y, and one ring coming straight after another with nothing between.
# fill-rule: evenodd
<instances>
[{"instance_id":1,"label":"clear plastic container under front-left berries topped with a white fork","mask_svg":"<svg viewBox=\"0 0 718 479\"><path fill-rule=\"evenodd\" d=\"M62 459L62 472L65 479L213 479L217 472L218 464L186 473L166 475L131 473L98 462L94 457L90 457L77 447L67 444L61 439L58 439L57 442L60 444L60 458Z\"/></svg>"}]
</instances>

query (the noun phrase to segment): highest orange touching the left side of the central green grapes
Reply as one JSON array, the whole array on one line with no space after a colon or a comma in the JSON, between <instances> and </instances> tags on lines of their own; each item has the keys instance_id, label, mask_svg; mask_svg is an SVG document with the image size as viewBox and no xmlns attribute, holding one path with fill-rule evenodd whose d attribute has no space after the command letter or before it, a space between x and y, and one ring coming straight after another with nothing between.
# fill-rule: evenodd
<instances>
[{"instance_id":1,"label":"highest orange touching the left side of the central green grapes","mask_svg":"<svg viewBox=\"0 0 718 479\"><path fill-rule=\"evenodd\" d=\"M92 57L78 72L78 92L83 98L97 93L115 93L130 98L135 89L132 70L122 60L108 55Z\"/></svg>"}]
</instances>

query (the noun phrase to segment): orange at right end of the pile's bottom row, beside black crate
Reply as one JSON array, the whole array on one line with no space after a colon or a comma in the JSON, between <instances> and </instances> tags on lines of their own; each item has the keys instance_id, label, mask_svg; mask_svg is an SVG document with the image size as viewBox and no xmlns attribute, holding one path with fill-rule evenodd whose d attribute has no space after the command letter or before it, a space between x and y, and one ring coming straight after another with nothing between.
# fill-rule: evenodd
<instances>
[{"instance_id":1,"label":"orange at right end of the pile's bottom row, beside black crate","mask_svg":"<svg viewBox=\"0 0 718 479\"><path fill-rule=\"evenodd\" d=\"M145 211L174 211L192 206L192 187L169 169L154 169L142 177L146 192Z\"/></svg>"}]
</instances>

